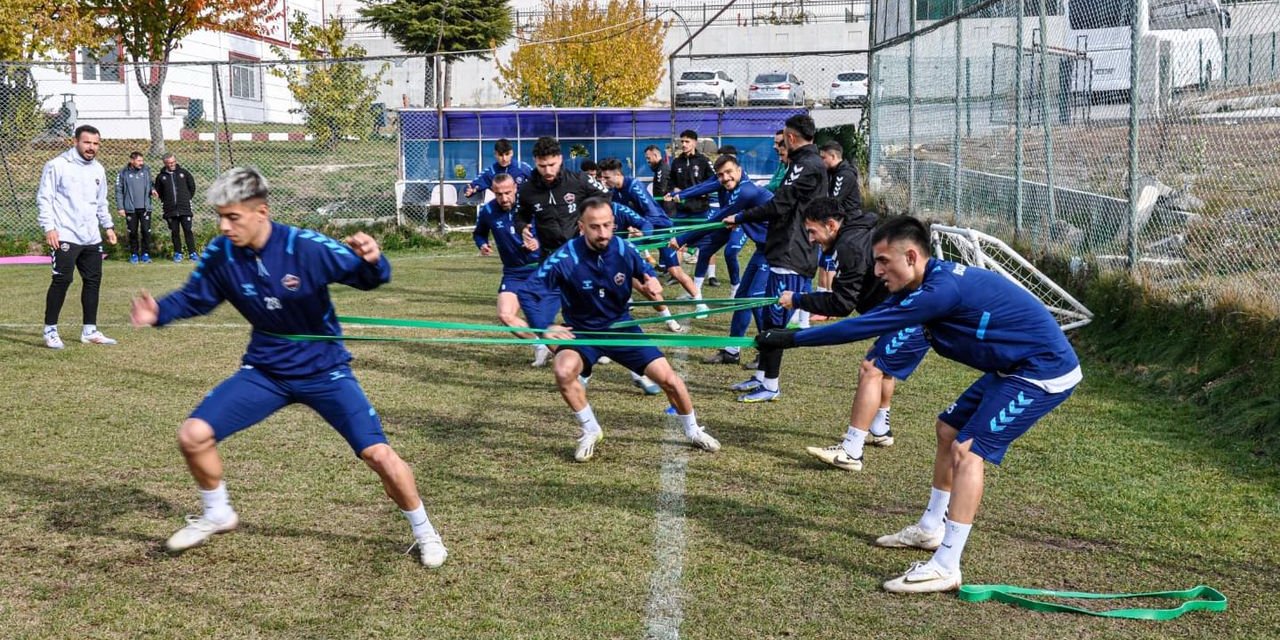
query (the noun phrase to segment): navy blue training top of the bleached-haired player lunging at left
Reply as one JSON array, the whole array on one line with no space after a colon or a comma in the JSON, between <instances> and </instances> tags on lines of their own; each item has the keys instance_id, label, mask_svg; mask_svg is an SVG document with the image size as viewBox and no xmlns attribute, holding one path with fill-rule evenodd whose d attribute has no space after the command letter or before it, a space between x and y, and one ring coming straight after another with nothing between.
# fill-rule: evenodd
<instances>
[{"instance_id":1,"label":"navy blue training top of the bleached-haired player lunging at left","mask_svg":"<svg viewBox=\"0 0 1280 640\"><path fill-rule=\"evenodd\" d=\"M390 278L387 256L371 264L328 236L273 221L261 251L237 247L225 236L210 242L187 283L160 298L156 326L206 315L227 301L253 328L244 365L279 378L312 376L351 361L342 340L282 335L342 335L329 284L367 291Z\"/></svg>"}]
</instances>

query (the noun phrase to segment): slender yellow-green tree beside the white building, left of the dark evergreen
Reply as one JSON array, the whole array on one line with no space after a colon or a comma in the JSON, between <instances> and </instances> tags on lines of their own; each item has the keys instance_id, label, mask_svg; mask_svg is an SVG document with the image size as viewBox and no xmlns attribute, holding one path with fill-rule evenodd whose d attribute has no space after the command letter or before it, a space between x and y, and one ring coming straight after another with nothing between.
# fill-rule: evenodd
<instances>
[{"instance_id":1,"label":"slender yellow-green tree beside the white building, left of the dark evergreen","mask_svg":"<svg viewBox=\"0 0 1280 640\"><path fill-rule=\"evenodd\" d=\"M317 26L297 12L289 20L289 32L302 60L365 56L365 47L343 44L347 26L338 18ZM284 56L278 46L273 45L271 51ZM296 111L305 114L306 127L316 142L333 148L346 137L366 138L374 133L376 114L372 106L388 67L383 64L375 76L367 76L361 63L283 64L271 69L271 76L289 84L293 99L302 105Z\"/></svg>"}]
</instances>

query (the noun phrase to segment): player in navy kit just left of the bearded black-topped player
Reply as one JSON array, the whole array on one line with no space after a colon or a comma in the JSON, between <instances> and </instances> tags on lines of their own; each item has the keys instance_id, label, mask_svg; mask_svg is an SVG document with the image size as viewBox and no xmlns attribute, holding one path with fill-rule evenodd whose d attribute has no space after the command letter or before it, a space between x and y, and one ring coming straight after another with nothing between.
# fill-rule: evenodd
<instances>
[{"instance_id":1,"label":"player in navy kit just left of the bearded black-topped player","mask_svg":"<svg viewBox=\"0 0 1280 640\"><path fill-rule=\"evenodd\" d=\"M498 246L498 257L502 259L498 320L507 326L529 326L517 315L520 311L518 293L527 284L529 276L538 269L541 255L538 251L525 248L524 241L516 233L516 225L512 220L512 212L516 210L516 179L506 173L499 173L493 177L489 188L493 189L493 200L476 211L476 227L471 232L471 237L481 256L493 255L493 246L489 244L490 233L494 244ZM524 332L516 335L521 338L534 337L534 334ZM550 349L545 344L535 344L532 366L545 366L549 356Z\"/></svg>"}]
</instances>

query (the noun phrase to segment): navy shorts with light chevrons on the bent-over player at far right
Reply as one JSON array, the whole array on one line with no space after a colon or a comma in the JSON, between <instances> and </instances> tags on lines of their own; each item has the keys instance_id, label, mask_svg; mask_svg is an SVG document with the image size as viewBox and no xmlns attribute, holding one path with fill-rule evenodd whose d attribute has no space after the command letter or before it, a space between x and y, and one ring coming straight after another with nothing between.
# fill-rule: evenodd
<instances>
[{"instance_id":1,"label":"navy shorts with light chevrons on the bent-over player at far right","mask_svg":"<svg viewBox=\"0 0 1280 640\"><path fill-rule=\"evenodd\" d=\"M969 451L998 465L1019 435L1070 398L1074 390L1073 387L1048 393L1020 378L987 374L938 413L938 420L960 431L957 443L973 440Z\"/></svg>"}]
</instances>

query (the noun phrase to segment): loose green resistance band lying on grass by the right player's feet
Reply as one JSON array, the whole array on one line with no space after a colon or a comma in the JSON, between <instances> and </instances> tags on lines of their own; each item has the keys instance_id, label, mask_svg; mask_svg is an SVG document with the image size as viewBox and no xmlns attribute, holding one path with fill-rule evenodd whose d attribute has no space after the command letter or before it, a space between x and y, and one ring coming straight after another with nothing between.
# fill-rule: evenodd
<instances>
[{"instance_id":1,"label":"loose green resistance band lying on grass by the right player's feet","mask_svg":"<svg viewBox=\"0 0 1280 640\"><path fill-rule=\"evenodd\" d=\"M1055 613L1055 612L1071 612L1071 613L1084 613L1085 616L1098 616L1103 618L1128 618L1128 620L1174 620L1183 613L1189 611L1226 611L1226 596L1221 591L1211 586L1193 586L1184 591L1149 591L1142 594L1093 594L1088 591L1050 591L1047 589L1025 589L1021 586L1011 585L963 585L960 588L960 599L964 602L984 602L996 600L1006 604L1016 604L1032 611L1042 613ZM1178 600L1187 600L1180 607L1172 609L1107 609L1107 611L1089 611L1080 607L1071 607L1066 604L1055 604L1041 600L1033 600L1030 598L1023 598L1024 595L1041 595L1048 598L1076 598L1085 600L1119 600L1125 598L1171 598Z\"/></svg>"}]
</instances>

